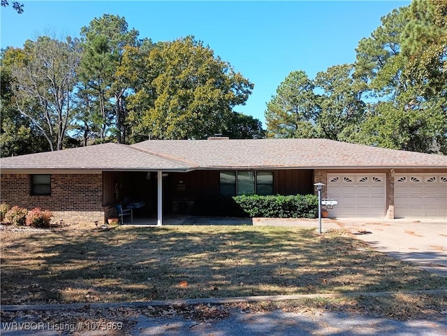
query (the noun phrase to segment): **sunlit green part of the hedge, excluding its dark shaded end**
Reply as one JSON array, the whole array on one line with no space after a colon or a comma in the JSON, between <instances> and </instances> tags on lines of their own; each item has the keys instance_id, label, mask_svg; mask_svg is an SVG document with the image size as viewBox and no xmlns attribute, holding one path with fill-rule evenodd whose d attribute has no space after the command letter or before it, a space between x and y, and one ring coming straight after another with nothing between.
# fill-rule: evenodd
<instances>
[{"instance_id":1,"label":"sunlit green part of the hedge, excluding its dark shaded end","mask_svg":"<svg viewBox=\"0 0 447 336\"><path fill-rule=\"evenodd\" d=\"M233 199L249 217L315 218L318 212L315 195L242 195Z\"/></svg>"}]
</instances>

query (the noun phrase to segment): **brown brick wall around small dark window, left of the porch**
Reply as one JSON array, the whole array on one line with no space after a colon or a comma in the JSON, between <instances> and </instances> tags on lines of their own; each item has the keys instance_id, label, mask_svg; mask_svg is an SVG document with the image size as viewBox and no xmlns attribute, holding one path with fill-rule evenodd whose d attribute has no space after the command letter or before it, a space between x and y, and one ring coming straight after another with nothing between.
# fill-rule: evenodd
<instances>
[{"instance_id":1,"label":"brown brick wall around small dark window, left of the porch","mask_svg":"<svg viewBox=\"0 0 447 336\"><path fill-rule=\"evenodd\" d=\"M29 174L2 174L0 187L1 202L50 210L54 221L103 224L105 220L101 174L52 174L50 196L31 195Z\"/></svg>"}]
</instances>

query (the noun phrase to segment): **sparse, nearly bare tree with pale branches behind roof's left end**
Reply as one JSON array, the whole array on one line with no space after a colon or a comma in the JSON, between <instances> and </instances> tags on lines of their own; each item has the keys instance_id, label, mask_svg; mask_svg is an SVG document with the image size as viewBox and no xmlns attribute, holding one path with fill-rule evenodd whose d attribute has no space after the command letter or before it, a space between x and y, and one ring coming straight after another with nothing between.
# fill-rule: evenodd
<instances>
[{"instance_id":1,"label":"sparse, nearly bare tree with pale branches behind roof's left end","mask_svg":"<svg viewBox=\"0 0 447 336\"><path fill-rule=\"evenodd\" d=\"M73 120L73 87L79 56L73 41L41 36L27 41L11 64L17 110L41 133L51 150L62 149Z\"/></svg>"}]
</instances>

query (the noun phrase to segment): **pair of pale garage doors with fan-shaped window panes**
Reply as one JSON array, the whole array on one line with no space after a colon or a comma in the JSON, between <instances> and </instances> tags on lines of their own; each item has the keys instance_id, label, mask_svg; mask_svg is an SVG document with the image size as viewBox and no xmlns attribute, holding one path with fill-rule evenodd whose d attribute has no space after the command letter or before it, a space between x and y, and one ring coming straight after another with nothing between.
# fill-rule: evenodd
<instances>
[{"instance_id":1,"label":"pair of pale garage doors with fan-shaped window panes","mask_svg":"<svg viewBox=\"0 0 447 336\"><path fill-rule=\"evenodd\" d=\"M446 174L395 174L394 214L401 217L447 217ZM328 173L328 199L337 200L330 217L384 217L385 173Z\"/></svg>"}]
</instances>

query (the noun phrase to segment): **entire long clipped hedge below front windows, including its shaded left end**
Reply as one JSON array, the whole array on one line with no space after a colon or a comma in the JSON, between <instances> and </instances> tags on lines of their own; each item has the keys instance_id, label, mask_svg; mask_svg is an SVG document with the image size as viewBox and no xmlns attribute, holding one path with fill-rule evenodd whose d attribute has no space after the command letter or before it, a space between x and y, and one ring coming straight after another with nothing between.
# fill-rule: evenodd
<instances>
[{"instance_id":1,"label":"entire long clipped hedge below front windows, including its shaded left end","mask_svg":"<svg viewBox=\"0 0 447 336\"><path fill-rule=\"evenodd\" d=\"M196 200L193 214L200 216L315 218L315 195L243 195L207 197Z\"/></svg>"}]
</instances>

